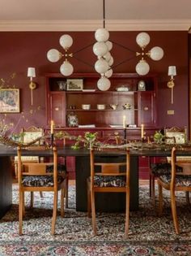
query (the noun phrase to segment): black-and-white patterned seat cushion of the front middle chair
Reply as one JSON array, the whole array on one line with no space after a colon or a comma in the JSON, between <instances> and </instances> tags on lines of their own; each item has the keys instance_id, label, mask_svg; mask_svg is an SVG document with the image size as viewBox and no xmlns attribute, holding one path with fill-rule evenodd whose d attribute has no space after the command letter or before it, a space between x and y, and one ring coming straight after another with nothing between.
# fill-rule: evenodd
<instances>
[{"instance_id":1,"label":"black-and-white patterned seat cushion of the front middle chair","mask_svg":"<svg viewBox=\"0 0 191 256\"><path fill-rule=\"evenodd\" d=\"M96 187L125 187L126 176L95 176Z\"/></svg>"}]
</instances>

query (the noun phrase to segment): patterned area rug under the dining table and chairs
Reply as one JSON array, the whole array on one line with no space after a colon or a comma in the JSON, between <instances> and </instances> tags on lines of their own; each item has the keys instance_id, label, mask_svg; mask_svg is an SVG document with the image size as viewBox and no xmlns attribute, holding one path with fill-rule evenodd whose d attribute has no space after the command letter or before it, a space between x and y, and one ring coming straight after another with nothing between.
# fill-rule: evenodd
<instances>
[{"instance_id":1,"label":"patterned area rug under the dining table and chairs","mask_svg":"<svg viewBox=\"0 0 191 256\"><path fill-rule=\"evenodd\" d=\"M13 186L13 206L0 220L0 256L16 255L191 255L191 208L185 193L176 197L181 234L174 232L169 193L164 193L163 216L158 217L149 197L148 186L140 186L140 208L130 212L129 237L124 240L125 214L97 216L97 236L92 235L91 219L75 211L75 188L70 186L65 218L57 216L56 235L50 235L53 194L35 193L34 209L26 200L23 236L19 236L18 187ZM58 207L60 205L58 204ZM58 209L59 210L59 209Z\"/></svg>"}]
</instances>

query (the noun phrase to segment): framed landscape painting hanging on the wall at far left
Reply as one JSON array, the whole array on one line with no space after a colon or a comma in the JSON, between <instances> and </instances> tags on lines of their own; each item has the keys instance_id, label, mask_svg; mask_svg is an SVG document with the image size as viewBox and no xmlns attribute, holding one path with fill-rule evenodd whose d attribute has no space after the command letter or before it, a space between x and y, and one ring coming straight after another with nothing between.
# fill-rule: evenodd
<instances>
[{"instance_id":1,"label":"framed landscape painting hanging on the wall at far left","mask_svg":"<svg viewBox=\"0 0 191 256\"><path fill-rule=\"evenodd\" d=\"M0 113L19 113L19 89L0 89Z\"/></svg>"}]
</instances>

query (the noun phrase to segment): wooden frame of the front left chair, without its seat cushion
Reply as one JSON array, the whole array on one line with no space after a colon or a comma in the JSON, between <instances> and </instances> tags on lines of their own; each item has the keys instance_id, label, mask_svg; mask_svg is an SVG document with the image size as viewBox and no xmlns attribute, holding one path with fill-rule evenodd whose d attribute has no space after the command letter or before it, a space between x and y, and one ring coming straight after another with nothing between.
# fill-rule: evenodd
<instances>
[{"instance_id":1,"label":"wooden frame of the front left chair, without its seat cushion","mask_svg":"<svg viewBox=\"0 0 191 256\"><path fill-rule=\"evenodd\" d=\"M53 173L46 173L45 167L53 164ZM24 171L24 170L28 171ZM19 178L19 235L23 233L23 214L24 214L24 193L26 191L53 191L53 219L51 233L54 235L55 223L57 218L57 192L61 190L61 215L64 217L64 197L66 193L66 178L61 184L57 184L57 149L53 148L53 163L23 163L21 160L21 149L18 148L18 178ZM36 187L36 186L24 186L23 176L49 176L53 175L53 187Z\"/></svg>"}]
</instances>

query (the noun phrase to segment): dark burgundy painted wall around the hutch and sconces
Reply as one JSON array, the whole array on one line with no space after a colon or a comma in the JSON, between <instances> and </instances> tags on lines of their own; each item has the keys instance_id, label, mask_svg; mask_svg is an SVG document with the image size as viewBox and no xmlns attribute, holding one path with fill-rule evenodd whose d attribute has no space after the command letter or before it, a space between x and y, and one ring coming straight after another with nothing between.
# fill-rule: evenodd
<instances>
[{"instance_id":1,"label":"dark burgundy painted wall around the hutch and sconces","mask_svg":"<svg viewBox=\"0 0 191 256\"><path fill-rule=\"evenodd\" d=\"M135 50L140 51L136 44L136 36L139 32L111 32L110 40ZM164 50L163 59L155 62L148 59L151 72L159 74L158 91L158 125L163 126L185 126L189 124L189 77L188 77L188 33L187 32L148 32L151 36L151 42L146 50L153 46L161 46ZM58 63L50 63L46 58L46 53L51 48L62 51L59 46L59 37L61 32L1 32L0 33L0 78L8 79L13 72L16 77L12 80L12 85L21 89L21 114L7 114L7 122L14 122L19 130L23 125L31 124L36 126L46 126L45 117L45 74L59 72L62 60ZM75 51L89 46L95 42L93 32L72 32L69 33L74 44L71 51ZM121 63L125 59L134 57L134 53L129 50L114 45L112 49L114 64ZM89 65L79 62L77 59L71 59L74 66L74 72L94 72L95 55L92 53L92 46L86 50L75 54L79 59L89 63ZM136 63L139 58L134 58L124 64L114 68L114 72L135 72ZM176 65L176 87L174 89L174 104L171 104L171 90L167 87L168 66ZM28 67L36 67L35 81L38 88L34 91L34 105L30 105L30 90L28 88L29 79L27 77ZM36 111L40 106L40 111ZM35 113L31 113L33 110ZM167 115L168 110L174 110L175 115ZM0 114L1 117L4 116ZM27 122L27 124L26 124Z\"/></svg>"}]
</instances>

